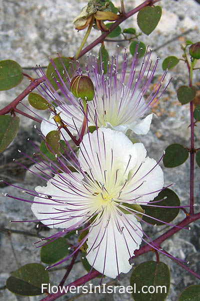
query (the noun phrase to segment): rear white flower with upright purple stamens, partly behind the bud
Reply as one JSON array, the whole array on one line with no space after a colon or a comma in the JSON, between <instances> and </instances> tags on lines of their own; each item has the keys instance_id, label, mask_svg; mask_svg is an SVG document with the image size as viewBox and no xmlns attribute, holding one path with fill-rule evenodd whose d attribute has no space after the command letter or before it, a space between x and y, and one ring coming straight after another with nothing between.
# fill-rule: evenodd
<instances>
[{"instance_id":1,"label":"rear white flower with upright purple stamens, partly behind the bud","mask_svg":"<svg viewBox=\"0 0 200 301\"><path fill-rule=\"evenodd\" d=\"M86 74L90 77L94 84L94 98L88 102L87 121L89 125L98 127L109 127L118 131L126 133L131 129L135 134L146 134L149 131L151 119L153 114L147 115L143 118L144 114L149 111L150 106L154 101L157 101L163 94L160 93L160 87L165 78L166 71L161 76L159 81L154 85L153 90L148 91L152 82L158 59L152 66L150 54L145 54L140 68L136 70L138 65L138 54L135 53L130 69L128 70L127 54L124 52L123 63L121 70L118 67L118 54L117 58L112 57L111 61L107 64L107 73L103 72L103 63L99 65L99 58L95 56L88 56L88 63L86 64ZM60 58L61 60L61 58ZM58 71L55 71L56 73ZM71 81L73 76L82 75L83 70L76 62L76 70L71 78L68 75L68 82ZM68 84L67 82L67 84ZM48 79L46 78L46 93L49 92ZM62 95L60 96L53 87L53 100L58 107L56 110L62 110L66 106L66 102L70 102L70 112L77 124L79 130L79 122L83 120L82 104L78 103L77 99L70 92L67 84L62 83ZM45 91L45 89L44 89ZM148 93L147 93L148 92ZM148 94L148 96L145 96ZM42 95L44 96L44 95ZM60 104L62 108L60 107ZM81 118L82 115L82 118ZM65 121L69 124L68 129L75 131L74 124L71 122L70 114L65 114ZM72 124L72 128L71 127ZM47 133L49 127L46 122L41 123L41 131L43 134ZM77 134L77 133L76 133Z\"/></svg>"}]
</instances>

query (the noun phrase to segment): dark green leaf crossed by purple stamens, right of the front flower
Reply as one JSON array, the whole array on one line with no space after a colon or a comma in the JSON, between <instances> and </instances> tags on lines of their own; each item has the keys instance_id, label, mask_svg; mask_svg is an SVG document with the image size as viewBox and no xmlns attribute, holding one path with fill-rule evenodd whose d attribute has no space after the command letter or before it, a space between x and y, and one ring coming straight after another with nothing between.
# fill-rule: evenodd
<instances>
[{"instance_id":1,"label":"dark green leaf crossed by purple stamens, right of the front flower","mask_svg":"<svg viewBox=\"0 0 200 301\"><path fill-rule=\"evenodd\" d=\"M166 198L166 199L162 200L163 198ZM159 200L162 200L162 201L158 202L158 203L152 203L152 204L150 204L150 202L149 202L147 204L147 205L152 205L152 207L145 206L145 205L143 205L141 207L144 209L146 215L157 218L163 222L170 223L178 215L179 208L161 208L158 206L164 206L164 207L180 206L180 200L179 200L178 196L172 190L170 190L168 188L160 191L158 196L156 198L154 198L154 200L152 202L159 201ZM158 222L145 215L143 215L142 220L144 220L145 222L152 224L152 225L155 225L155 224L158 226L165 225L164 223Z\"/></svg>"}]
</instances>

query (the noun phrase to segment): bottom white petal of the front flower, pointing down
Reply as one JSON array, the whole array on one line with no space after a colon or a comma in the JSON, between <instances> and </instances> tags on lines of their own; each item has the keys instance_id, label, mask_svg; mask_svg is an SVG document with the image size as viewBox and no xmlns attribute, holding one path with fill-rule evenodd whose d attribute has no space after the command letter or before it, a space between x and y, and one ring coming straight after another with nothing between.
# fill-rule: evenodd
<instances>
[{"instance_id":1,"label":"bottom white petal of the front flower, pointing down","mask_svg":"<svg viewBox=\"0 0 200 301\"><path fill-rule=\"evenodd\" d=\"M130 214L125 215L125 218L127 221L124 218L118 220L119 227L124 227L122 233L118 231L115 221L111 217L103 238L104 226L107 223L106 219L102 221L102 224L92 227L88 235L88 255L86 258L89 264L93 265L100 273L111 278L115 278L121 272L127 273L131 269L132 266L129 264L128 259L130 256L133 256L134 250L139 249L141 243L142 231L140 230L140 223ZM100 233L98 235L99 230ZM97 235L98 238L93 245ZM102 241L100 242L101 239ZM99 242L100 245L97 246ZM89 252L90 248L92 249Z\"/></svg>"}]
</instances>

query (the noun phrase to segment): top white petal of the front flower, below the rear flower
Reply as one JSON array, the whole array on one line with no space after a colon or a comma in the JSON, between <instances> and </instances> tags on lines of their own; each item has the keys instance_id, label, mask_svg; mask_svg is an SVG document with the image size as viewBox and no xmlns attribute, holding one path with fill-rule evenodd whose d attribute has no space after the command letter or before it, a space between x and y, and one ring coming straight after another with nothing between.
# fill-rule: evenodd
<instances>
[{"instance_id":1,"label":"top white petal of the front flower, below the rear flower","mask_svg":"<svg viewBox=\"0 0 200 301\"><path fill-rule=\"evenodd\" d=\"M95 180L101 183L104 183L104 170L107 171L107 177L112 182L114 181L116 170L118 170L118 179L121 177L121 181L124 181L128 170L135 166L137 160L133 144L125 134L102 127L98 129L98 132L95 130L92 134L83 136L78 159L82 169L90 173L89 169L91 168ZM128 169L124 174L129 160Z\"/></svg>"}]
</instances>

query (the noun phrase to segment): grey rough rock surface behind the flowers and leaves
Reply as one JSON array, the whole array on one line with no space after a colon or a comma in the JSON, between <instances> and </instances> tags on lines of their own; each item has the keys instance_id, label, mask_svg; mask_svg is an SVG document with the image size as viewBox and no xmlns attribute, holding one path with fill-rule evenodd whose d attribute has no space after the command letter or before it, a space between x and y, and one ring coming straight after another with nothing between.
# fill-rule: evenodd
<instances>
[{"instance_id":1,"label":"grey rough rock surface behind the flowers and leaves","mask_svg":"<svg viewBox=\"0 0 200 301\"><path fill-rule=\"evenodd\" d=\"M116 6L120 5L120 1L113 1ZM140 4L139 0L124 0L125 10L128 11ZM23 67L31 67L36 64L46 66L48 57L55 56L56 52L64 56L73 56L79 46L84 35L83 32L74 30L72 20L80 12L80 9L86 5L85 1L76 0L1 0L0 2L0 60L12 59L17 61ZM163 9L161 20L156 29L150 36L141 35L140 41L149 45L153 49L152 58L160 57L156 76L162 74L161 63L163 59L169 55L180 57L180 44L189 39L193 42L199 40L199 9L198 2L194 0L182 1L161 1L158 3ZM135 27L136 16L126 20L121 25L122 28ZM139 29L137 28L137 31ZM97 37L99 33L92 30L88 39L88 43ZM121 53L123 48L128 48L127 42L118 43ZM115 53L115 44L106 43L106 48L110 54ZM93 53L97 53L99 46L93 49ZM131 62L131 56L130 61ZM84 63L84 58L80 59ZM200 66L198 66L200 67ZM32 76L32 71L24 71ZM163 95L159 104L154 107L154 112L159 118L154 118L151 131L144 137L139 139L144 143L148 150L149 157L158 160L162 155L162 150L171 143L182 143L189 146L189 105L181 106L176 99L176 90L179 85L188 83L187 69L182 62L178 64L172 71L168 72L167 79L173 76L167 92ZM199 70L195 72L194 83L199 89ZM0 108L12 101L26 86L28 82L24 78L22 83L8 91L0 92ZM24 100L27 104L27 100ZM20 106L18 107L20 109ZM21 107L24 110L23 107ZM7 150L0 155L0 178L8 182L14 183L16 186L22 186L26 189L33 189L36 185L42 185L41 181L30 173L17 167L12 158L18 158L24 163L24 158L17 152L22 149L25 153L33 152L31 144L27 141L30 137L36 145L39 145L40 138L37 131L33 128L34 121L22 118L20 119L20 129L14 141ZM199 127L195 128L195 139L199 137ZM197 146L199 147L199 145ZM20 159L19 159L20 158ZM30 166L30 162L26 162ZM33 167L30 166L30 169ZM165 184L175 183L173 190L178 194L181 204L187 205L189 199L189 160L183 165L174 169L166 169L163 167ZM195 203L199 203L199 170L195 171ZM44 183L43 183L44 184ZM0 192L9 193L16 197L21 196L21 192L17 188L3 187L1 185ZM31 196L27 196L31 199ZM199 207L198 207L199 210ZM184 217L182 212L174 221L176 223ZM0 226L15 230L34 233L35 237L14 234L11 235L3 232L0 233L0 299L3 301L19 301L19 300L39 300L40 297L21 297L10 293L4 289L5 281L10 273L25 263L40 262L39 249L34 248L33 242L37 240L37 230L34 223L9 224L9 220L26 220L33 219L30 205L5 198L0 194ZM151 238L161 234L165 227L155 227L145 230ZM163 243L163 247L172 255L188 260L189 267L196 272L200 272L200 224L199 221L191 225L191 230L182 230L173 237ZM5 231L5 230L4 230ZM158 232L158 233L157 233ZM47 232L49 233L49 232ZM42 232L45 235L44 232ZM146 260L155 260L153 253L148 253L135 258L135 265ZM175 301L184 287L191 284L199 284L199 280L185 270L181 269L170 259L160 255L160 260L168 263L171 272L171 286L167 297L167 301ZM49 272L51 283L57 284L64 274L63 266L59 270ZM67 282L85 274L80 262L74 265ZM120 284L129 285L129 274L122 274ZM105 277L105 281L110 279ZM98 279L92 283L98 284ZM60 300L69 300L74 295L67 294ZM77 299L83 301L92 299L94 295L81 295ZM132 300L131 295L118 293L115 294L95 294L96 300ZM73 298L74 299L74 298Z\"/></svg>"}]
</instances>

